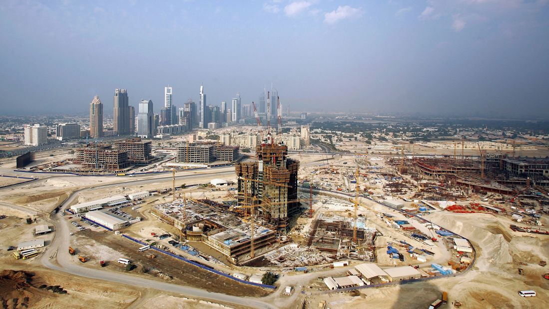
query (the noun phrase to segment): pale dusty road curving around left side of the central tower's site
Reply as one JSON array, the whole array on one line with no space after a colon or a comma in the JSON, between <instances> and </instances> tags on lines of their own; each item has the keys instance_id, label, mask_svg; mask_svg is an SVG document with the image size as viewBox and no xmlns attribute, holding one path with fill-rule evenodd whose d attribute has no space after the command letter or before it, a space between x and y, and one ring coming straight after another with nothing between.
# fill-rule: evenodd
<instances>
[{"instance_id":1,"label":"pale dusty road curving around left side of the central tower's site","mask_svg":"<svg viewBox=\"0 0 549 309\"><path fill-rule=\"evenodd\" d=\"M215 172L215 173L208 173L208 174L216 174L221 176L229 173L234 174L234 172L221 172L221 173ZM193 178L200 178L208 174L177 176L176 178L177 179L193 179ZM169 178L171 177L134 180L134 181L127 181L125 183L107 184L102 186L86 188L86 189L80 189L72 192L72 194L63 202L60 208L61 208L61 211L67 208L70 205L70 203L74 201L74 199L82 191L104 189L106 187L120 186L123 184L132 184L132 185L148 184L148 183L154 183L161 179L169 179ZM238 296L225 295L221 293L210 293L208 291L197 289L197 288L191 288L189 286L165 283L165 282L146 279L146 278L142 278L142 277L138 277L130 274L117 273L112 271L103 271L102 269L92 269L92 268L79 266L78 264L74 264L71 261L71 258L68 252L68 247L69 247L68 221L63 220L63 218L61 218L60 216L54 215L52 217L52 223L54 224L55 235L51 244L47 247L46 251L42 254L40 258L40 262L44 267L53 269L54 271L70 273L73 275L91 278L91 279L107 280L115 283L139 286L141 288L146 288L146 289L164 290L172 293L184 294L187 296L194 296L200 299L210 300L214 302L215 301L225 302L225 303L243 306L243 307L276 308L276 306L273 306L272 304L268 304L266 302L263 302L251 297L238 297Z\"/></svg>"}]
</instances>

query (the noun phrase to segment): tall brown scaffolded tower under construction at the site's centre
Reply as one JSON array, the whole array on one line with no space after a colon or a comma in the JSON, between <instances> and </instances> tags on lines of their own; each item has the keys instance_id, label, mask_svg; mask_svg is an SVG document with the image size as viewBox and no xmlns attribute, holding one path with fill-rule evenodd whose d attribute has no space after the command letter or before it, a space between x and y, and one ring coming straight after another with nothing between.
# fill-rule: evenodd
<instances>
[{"instance_id":1,"label":"tall brown scaffolded tower under construction at the site's centre","mask_svg":"<svg viewBox=\"0 0 549 309\"><path fill-rule=\"evenodd\" d=\"M281 233L299 213L299 162L287 158L286 145L271 144L269 137L256 147L256 161L236 165L238 208L244 214L255 211Z\"/></svg>"}]
</instances>

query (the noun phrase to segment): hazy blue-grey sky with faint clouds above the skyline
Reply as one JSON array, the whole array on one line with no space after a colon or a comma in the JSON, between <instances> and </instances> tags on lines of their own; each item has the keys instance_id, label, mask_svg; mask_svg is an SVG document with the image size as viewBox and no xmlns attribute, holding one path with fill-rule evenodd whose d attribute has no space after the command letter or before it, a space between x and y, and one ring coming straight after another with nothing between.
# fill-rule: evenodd
<instances>
[{"instance_id":1,"label":"hazy blue-grey sky with faint clouds above the skyline","mask_svg":"<svg viewBox=\"0 0 549 309\"><path fill-rule=\"evenodd\" d=\"M259 101L284 110L549 116L549 0L0 1L0 114Z\"/></svg>"}]
</instances>

